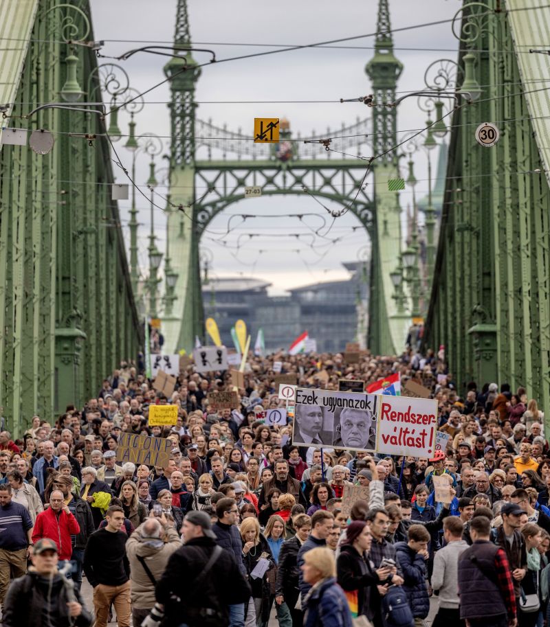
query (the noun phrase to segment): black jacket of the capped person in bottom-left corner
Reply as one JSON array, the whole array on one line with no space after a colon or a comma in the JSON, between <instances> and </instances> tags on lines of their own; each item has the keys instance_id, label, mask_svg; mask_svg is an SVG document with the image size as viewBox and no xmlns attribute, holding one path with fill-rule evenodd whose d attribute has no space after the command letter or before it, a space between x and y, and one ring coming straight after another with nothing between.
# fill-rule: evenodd
<instances>
[{"instance_id":1,"label":"black jacket of the capped person in bottom-left corner","mask_svg":"<svg viewBox=\"0 0 550 627\"><path fill-rule=\"evenodd\" d=\"M39 575L30 572L12 582L8 595L3 604L3 627L89 627L92 622L90 613L80 597L74 591L76 600L82 606L82 613L75 620L69 616L67 602L67 588L61 575L54 575L52 581L52 613L50 622L45 620L43 610L47 604L47 595L44 595L39 584ZM74 622L73 622L74 620Z\"/></svg>"}]
</instances>

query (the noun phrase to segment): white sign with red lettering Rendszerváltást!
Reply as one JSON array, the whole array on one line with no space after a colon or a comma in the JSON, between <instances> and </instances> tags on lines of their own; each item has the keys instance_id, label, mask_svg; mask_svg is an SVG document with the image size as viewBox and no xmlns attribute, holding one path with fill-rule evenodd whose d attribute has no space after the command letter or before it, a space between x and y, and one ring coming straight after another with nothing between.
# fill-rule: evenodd
<instances>
[{"instance_id":1,"label":"white sign with red lettering Rendszerv\u00e1lt\u00e1st!","mask_svg":"<svg viewBox=\"0 0 550 627\"><path fill-rule=\"evenodd\" d=\"M376 451L431 457L435 451L437 400L378 396Z\"/></svg>"}]
</instances>

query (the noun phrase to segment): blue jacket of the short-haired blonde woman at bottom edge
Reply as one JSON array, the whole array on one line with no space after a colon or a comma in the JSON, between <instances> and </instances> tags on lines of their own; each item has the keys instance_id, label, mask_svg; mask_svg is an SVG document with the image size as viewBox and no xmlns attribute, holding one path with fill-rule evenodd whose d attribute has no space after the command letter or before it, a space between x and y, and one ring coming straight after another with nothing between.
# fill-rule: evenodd
<instances>
[{"instance_id":1,"label":"blue jacket of the short-haired blonde woman at bottom edge","mask_svg":"<svg viewBox=\"0 0 550 627\"><path fill-rule=\"evenodd\" d=\"M346 596L333 577L312 588L303 607L304 627L353 627Z\"/></svg>"}]
</instances>

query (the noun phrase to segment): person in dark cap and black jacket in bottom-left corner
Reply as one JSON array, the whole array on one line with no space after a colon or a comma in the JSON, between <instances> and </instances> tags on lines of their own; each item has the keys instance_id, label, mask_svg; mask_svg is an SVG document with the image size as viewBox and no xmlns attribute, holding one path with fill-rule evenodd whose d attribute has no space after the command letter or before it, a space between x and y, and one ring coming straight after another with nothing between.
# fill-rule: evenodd
<instances>
[{"instance_id":1,"label":"person in dark cap and black jacket in bottom-left corner","mask_svg":"<svg viewBox=\"0 0 550 627\"><path fill-rule=\"evenodd\" d=\"M3 627L89 627L92 617L80 592L57 569L54 540L39 540L31 559L29 572L12 582L5 597Z\"/></svg>"}]
</instances>

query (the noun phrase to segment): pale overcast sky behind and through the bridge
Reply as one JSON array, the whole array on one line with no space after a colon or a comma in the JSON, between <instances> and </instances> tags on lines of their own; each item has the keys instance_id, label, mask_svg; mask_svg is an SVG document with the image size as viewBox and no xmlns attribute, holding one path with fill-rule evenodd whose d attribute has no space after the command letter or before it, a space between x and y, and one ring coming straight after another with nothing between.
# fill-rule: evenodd
<instances>
[{"instance_id":1,"label":"pale overcast sky behind and through the bridge","mask_svg":"<svg viewBox=\"0 0 550 627\"><path fill-rule=\"evenodd\" d=\"M94 38L105 40L103 54L119 55L140 42L170 43L175 28L176 0L91 0L94 21ZM461 3L457 0L391 0L392 27L399 29L410 25L452 19ZM197 46L214 49L218 59L264 52L266 47L257 44L300 45L336 38L352 37L375 32L376 0L278 0L277 3L252 0L188 0L192 40ZM337 10L336 10L337 9ZM109 41L119 40L119 42ZM129 43L120 40L135 40ZM212 124L252 135L254 117L287 117L294 135L316 130L324 133L328 126L340 128L342 122L354 124L355 119L370 117L371 110L360 103L340 104L218 104L224 100L339 100L369 93L369 79L364 73L366 62L373 55L373 37L364 37L343 44L344 48L303 49L259 58L236 60L203 68L197 84L197 117L212 119ZM222 45L230 43L232 45ZM242 45L245 43L256 45ZM241 44L241 45L238 45ZM398 91L416 91L423 87L426 67L439 58L456 59L457 41L452 36L449 23L415 28L394 34L395 56L404 64ZM272 48L276 49L276 48ZM428 50L429 49L429 50ZM209 56L195 54L199 62ZM107 62L107 61L106 61ZM166 58L136 54L121 62L129 74L132 87L139 91L148 89L164 78L162 67ZM169 135L170 118L166 102L170 98L168 85L164 84L146 95L146 106L136 117L138 133ZM213 102L212 101L217 101ZM419 111L416 100L410 98L399 106L397 128L409 130L424 126L426 114ZM126 133L128 117L120 115L120 126ZM120 146L126 140L122 139ZM166 152L168 152L168 139ZM338 149L336 140L333 147ZM320 159L322 147L319 148ZM353 146L350 152L353 152ZM366 151L368 152L368 151ZM364 154L366 154L366 152ZM131 170L131 155L121 149L124 166ZM232 155L228 153L228 157ZM405 174L405 173L404 173ZM417 157L417 186L419 197L427 193L426 157ZM148 177L145 157L138 157L137 182ZM124 181L118 175L119 182ZM164 191L164 190L163 190ZM401 194L401 207L410 202L410 190ZM127 203L121 203L122 220L127 237ZM144 198L137 202L140 209L140 265L146 270L146 235L150 227L148 206ZM314 212L322 215L324 209L307 196L276 196L244 200L231 205L212 220L208 229L221 236L227 231L233 214L287 214ZM302 247L298 255L296 238L281 237L285 233L311 233L320 226L322 218L312 216L309 226L300 225L297 218L274 220L263 218L247 220L226 238L225 249L219 242L203 238L201 244L213 258L212 275L228 276L242 273L272 282L273 294L284 293L285 288L320 280L337 280L347 277L342 262L358 259L360 251L368 244L366 233L353 227L358 220L347 214L336 220L331 234L342 236L342 242L322 247L326 240L314 242L315 251ZM421 218L422 220L422 218ZM234 220L233 223L238 222ZM239 251L228 251L237 238L248 231L264 233L254 237ZM155 233L159 248L166 242L165 220L162 212L155 211ZM278 236L275 237L274 235ZM212 236L212 233L210 233ZM218 237L219 237L218 236ZM214 239L216 237L213 237ZM243 238L241 238L242 240ZM304 241L306 239L304 238ZM309 239L307 240L309 242Z\"/></svg>"}]
</instances>

